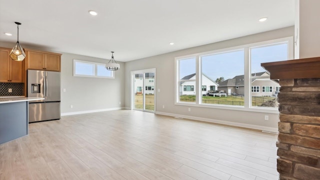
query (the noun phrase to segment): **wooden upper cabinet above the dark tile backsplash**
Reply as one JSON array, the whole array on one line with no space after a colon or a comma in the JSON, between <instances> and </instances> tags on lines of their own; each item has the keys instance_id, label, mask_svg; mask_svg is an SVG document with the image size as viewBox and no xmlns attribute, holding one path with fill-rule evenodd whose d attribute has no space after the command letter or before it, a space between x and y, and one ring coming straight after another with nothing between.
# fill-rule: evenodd
<instances>
[{"instance_id":1,"label":"wooden upper cabinet above the dark tile backsplash","mask_svg":"<svg viewBox=\"0 0 320 180\"><path fill-rule=\"evenodd\" d=\"M23 82L23 61L12 60L10 51L0 47L0 82Z\"/></svg>"}]
</instances>

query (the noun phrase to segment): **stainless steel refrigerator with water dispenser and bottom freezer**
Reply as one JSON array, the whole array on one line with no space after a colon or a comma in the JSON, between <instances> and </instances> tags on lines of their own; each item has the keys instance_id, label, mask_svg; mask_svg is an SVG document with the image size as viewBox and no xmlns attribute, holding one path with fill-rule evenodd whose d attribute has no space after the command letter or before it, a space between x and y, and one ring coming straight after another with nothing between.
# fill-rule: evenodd
<instances>
[{"instance_id":1,"label":"stainless steel refrigerator with water dispenser and bottom freezer","mask_svg":"<svg viewBox=\"0 0 320 180\"><path fill-rule=\"evenodd\" d=\"M29 122L60 118L60 72L27 70L28 97L43 97L29 102Z\"/></svg>"}]
</instances>

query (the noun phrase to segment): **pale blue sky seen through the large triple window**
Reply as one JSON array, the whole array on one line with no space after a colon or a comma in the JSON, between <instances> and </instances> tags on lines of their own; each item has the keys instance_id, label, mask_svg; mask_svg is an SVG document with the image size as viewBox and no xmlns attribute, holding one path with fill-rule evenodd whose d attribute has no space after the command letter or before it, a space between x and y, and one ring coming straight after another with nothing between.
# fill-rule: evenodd
<instances>
[{"instance_id":1,"label":"pale blue sky seen through the large triple window","mask_svg":"<svg viewBox=\"0 0 320 180\"><path fill-rule=\"evenodd\" d=\"M286 60L287 44L275 44L251 48L251 73L265 71L260 66L262 62ZM212 80L218 77L224 79L233 78L244 74L244 51L243 49L215 53L201 56L202 72ZM195 73L195 57L180 60L180 79L186 75Z\"/></svg>"}]
</instances>

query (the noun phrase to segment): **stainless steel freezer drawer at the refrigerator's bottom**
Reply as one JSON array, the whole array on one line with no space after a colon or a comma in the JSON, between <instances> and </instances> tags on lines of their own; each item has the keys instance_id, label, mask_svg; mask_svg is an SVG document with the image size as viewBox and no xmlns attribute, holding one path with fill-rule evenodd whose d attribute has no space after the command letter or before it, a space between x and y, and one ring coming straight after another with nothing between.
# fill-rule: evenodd
<instances>
[{"instance_id":1,"label":"stainless steel freezer drawer at the refrigerator's bottom","mask_svg":"<svg viewBox=\"0 0 320 180\"><path fill-rule=\"evenodd\" d=\"M29 122L60 118L60 102L29 103Z\"/></svg>"}]
</instances>

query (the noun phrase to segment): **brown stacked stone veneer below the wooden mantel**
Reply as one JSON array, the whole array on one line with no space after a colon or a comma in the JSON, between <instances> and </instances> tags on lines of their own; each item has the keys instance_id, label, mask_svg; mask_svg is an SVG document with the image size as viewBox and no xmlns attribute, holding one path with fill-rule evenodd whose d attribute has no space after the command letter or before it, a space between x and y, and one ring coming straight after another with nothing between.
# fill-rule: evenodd
<instances>
[{"instance_id":1,"label":"brown stacked stone veneer below the wooden mantel","mask_svg":"<svg viewBox=\"0 0 320 180\"><path fill-rule=\"evenodd\" d=\"M320 179L320 78L280 79L280 180Z\"/></svg>"}]
</instances>

